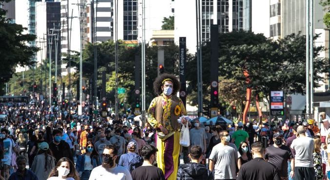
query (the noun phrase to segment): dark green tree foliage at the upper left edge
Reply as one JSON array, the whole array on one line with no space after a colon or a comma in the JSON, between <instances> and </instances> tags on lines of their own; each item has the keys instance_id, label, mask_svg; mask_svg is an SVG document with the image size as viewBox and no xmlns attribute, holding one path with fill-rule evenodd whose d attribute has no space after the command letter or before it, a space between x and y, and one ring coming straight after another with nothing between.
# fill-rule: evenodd
<instances>
[{"instance_id":1,"label":"dark green tree foliage at the upper left edge","mask_svg":"<svg viewBox=\"0 0 330 180\"><path fill-rule=\"evenodd\" d=\"M9 1L0 0L0 5ZM7 82L12 77L18 65L33 66L35 62L32 60L32 57L38 51L38 48L27 45L27 42L35 40L36 36L23 34L26 28L19 24L11 23L6 18L6 13L6 10L0 8L0 84Z\"/></svg>"}]
</instances>

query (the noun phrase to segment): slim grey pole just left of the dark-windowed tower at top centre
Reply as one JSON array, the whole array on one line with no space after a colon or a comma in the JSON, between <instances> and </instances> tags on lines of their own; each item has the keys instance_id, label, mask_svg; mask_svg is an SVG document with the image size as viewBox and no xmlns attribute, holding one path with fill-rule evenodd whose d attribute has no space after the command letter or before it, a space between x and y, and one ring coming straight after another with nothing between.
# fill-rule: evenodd
<instances>
[{"instance_id":1,"label":"slim grey pole just left of the dark-windowed tower at top centre","mask_svg":"<svg viewBox=\"0 0 330 180\"><path fill-rule=\"evenodd\" d=\"M116 27L115 27L115 79L116 79L116 87L115 87L115 114L116 120L118 120L118 0L115 0L115 20L116 20Z\"/></svg>"}]
</instances>

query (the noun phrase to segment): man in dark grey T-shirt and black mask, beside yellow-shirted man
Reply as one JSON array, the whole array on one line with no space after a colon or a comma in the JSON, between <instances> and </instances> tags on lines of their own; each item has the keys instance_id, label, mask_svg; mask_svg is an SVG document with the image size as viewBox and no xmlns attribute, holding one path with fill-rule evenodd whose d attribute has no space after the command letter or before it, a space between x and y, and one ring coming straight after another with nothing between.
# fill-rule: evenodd
<instances>
[{"instance_id":1,"label":"man in dark grey T-shirt and black mask, beside yellow-shirted man","mask_svg":"<svg viewBox=\"0 0 330 180\"><path fill-rule=\"evenodd\" d=\"M283 135L273 135L274 144L268 146L265 152L265 160L275 166L282 180L288 180L288 160L291 160L291 169L294 169L294 158L288 146L283 145Z\"/></svg>"}]
</instances>

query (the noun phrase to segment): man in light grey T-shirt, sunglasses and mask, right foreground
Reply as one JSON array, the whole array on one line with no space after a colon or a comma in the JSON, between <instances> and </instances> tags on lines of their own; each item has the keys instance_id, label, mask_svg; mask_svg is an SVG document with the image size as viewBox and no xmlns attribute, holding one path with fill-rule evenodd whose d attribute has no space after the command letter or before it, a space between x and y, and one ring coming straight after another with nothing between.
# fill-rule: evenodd
<instances>
[{"instance_id":1,"label":"man in light grey T-shirt, sunglasses and mask, right foreground","mask_svg":"<svg viewBox=\"0 0 330 180\"><path fill-rule=\"evenodd\" d=\"M214 180L235 180L236 165L240 154L235 144L230 142L229 133L219 132L221 142L213 147L209 157L209 169L214 171Z\"/></svg>"}]
</instances>

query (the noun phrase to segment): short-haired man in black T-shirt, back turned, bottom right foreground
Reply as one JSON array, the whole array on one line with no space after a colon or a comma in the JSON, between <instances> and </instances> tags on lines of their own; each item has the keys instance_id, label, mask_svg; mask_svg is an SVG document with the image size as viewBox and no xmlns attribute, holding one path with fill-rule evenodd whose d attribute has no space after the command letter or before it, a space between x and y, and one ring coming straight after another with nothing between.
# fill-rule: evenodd
<instances>
[{"instance_id":1,"label":"short-haired man in black T-shirt, back turned, bottom right foreground","mask_svg":"<svg viewBox=\"0 0 330 180\"><path fill-rule=\"evenodd\" d=\"M263 159L265 153L263 143L254 142L251 149L254 159L241 166L236 180L281 180L277 169Z\"/></svg>"}]
</instances>

